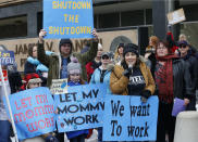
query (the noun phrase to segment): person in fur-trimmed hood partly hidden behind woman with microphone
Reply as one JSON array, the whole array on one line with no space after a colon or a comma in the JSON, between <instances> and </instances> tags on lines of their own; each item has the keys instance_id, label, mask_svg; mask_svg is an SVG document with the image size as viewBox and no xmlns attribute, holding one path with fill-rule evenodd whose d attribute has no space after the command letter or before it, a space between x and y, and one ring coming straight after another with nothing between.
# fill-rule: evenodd
<instances>
[{"instance_id":1,"label":"person in fur-trimmed hood partly hidden behind woman with microphone","mask_svg":"<svg viewBox=\"0 0 198 142\"><path fill-rule=\"evenodd\" d=\"M114 62L117 65L121 65L121 61L123 60L123 49L124 49L124 43L120 43L115 50Z\"/></svg>"}]
</instances>

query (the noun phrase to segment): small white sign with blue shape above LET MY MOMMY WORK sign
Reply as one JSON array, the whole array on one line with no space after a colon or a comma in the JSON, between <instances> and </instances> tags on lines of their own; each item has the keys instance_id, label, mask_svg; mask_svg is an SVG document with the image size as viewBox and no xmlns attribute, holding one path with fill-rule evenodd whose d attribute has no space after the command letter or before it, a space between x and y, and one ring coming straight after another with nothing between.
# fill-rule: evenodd
<instances>
[{"instance_id":1,"label":"small white sign with blue shape above LET MY MOMMY WORK sign","mask_svg":"<svg viewBox=\"0 0 198 142\"><path fill-rule=\"evenodd\" d=\"M50 91L52 94L67 93L67 79L52 79Z\"/></svg>"}]
</instances>

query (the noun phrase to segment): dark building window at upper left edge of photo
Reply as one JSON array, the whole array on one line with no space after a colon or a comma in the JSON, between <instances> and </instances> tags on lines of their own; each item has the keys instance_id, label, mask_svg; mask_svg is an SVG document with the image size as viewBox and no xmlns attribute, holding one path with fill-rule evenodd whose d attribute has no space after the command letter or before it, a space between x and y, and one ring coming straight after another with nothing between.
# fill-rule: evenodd
<instances>
[{"instance_id":1,"label":"dark building window at upper left edge of photo","mask_svg":"<svg viewBox=\"0 0 198 142\"><path fill-rule=\"evenodd\" d=\"M27 36L27 16L0 18L0 39Z\"/></svg>"}]
</instances>

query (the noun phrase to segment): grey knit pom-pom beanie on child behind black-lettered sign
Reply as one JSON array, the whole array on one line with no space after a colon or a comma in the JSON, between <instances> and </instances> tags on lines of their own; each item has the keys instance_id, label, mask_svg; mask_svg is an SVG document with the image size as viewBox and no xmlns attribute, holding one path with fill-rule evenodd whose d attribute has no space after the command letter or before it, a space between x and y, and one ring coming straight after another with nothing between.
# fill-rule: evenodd
<instances>
[{"instance_id":1,"label":"grey knit pom-pom beanie on child behind black-lettered sign","mask_svg":"<svg viewBox=\"0 0 198 142\"><path fill-rule=\"evenodd\" d=\"M67 74L82 74L82 66L76 57L72 57L67 65Z\"/></svg>"}]
</instances>

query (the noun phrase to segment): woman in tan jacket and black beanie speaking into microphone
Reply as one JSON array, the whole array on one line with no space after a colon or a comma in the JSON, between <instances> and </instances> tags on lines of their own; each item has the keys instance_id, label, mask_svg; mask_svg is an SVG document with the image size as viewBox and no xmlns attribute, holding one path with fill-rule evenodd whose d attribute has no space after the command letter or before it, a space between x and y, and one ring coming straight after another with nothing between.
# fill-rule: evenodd
<instances>
[{"instance_id":1,"label":"woman in tan jacket and black beanie speaking into microphone","mask_svg":"<svg viewBox=\"0 0 198 142\"><path fill-rule=\"evenodd\" d=\"M141 101L154 92L154 80L150 69L139 59L138 47L128 43L124 47L124 60L115 65L110 77L110 88L114 94L140 95Z\"/></svg>"}]
</instances>

